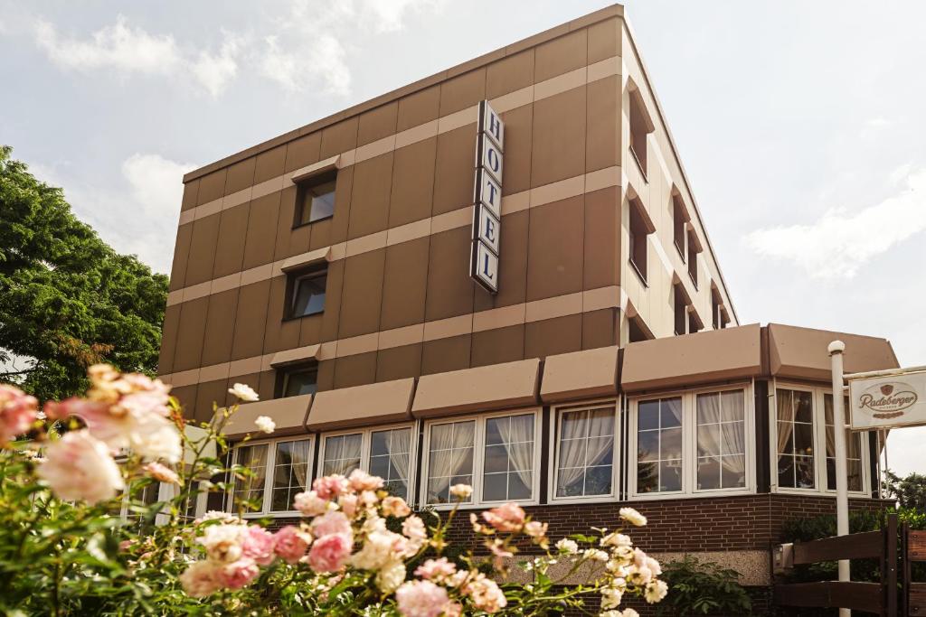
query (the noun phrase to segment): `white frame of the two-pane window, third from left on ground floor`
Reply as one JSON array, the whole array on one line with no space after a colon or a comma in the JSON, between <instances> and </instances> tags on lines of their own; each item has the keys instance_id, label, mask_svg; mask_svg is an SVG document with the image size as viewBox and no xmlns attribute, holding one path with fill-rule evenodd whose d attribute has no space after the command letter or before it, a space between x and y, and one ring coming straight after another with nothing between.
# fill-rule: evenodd
<instances>
[{"instance_id":1,"label":"white frame of the two-pane window, third from left on ground floor","mask_svg":"<svg viewBox=\"0 0 926 617\"><path fill-rule=\"evenodd\" d=\"M533 415L533 482L531 487L531 499L528 500L482 500L482 470L485 459L485 424L486 420L491 418L506 417L509 415ZM467 422L473 420L476 423L475 433L473 435L473 452L472 452L472 498L469 502L460 503L460 510L471 510L475 508L494 507L503 503L514 502L521 506L534 506L540 503L540 460L541 460L541 436L543 434L543 416L540 407L528 407L526 409L505 410L493 413L473 413L468 415L458 415L443 418L434 418L426 420L424 423L424 447L421 450L421 486L419 487L419 504L421 507L430 507L434 510L453 510L457 505L452 503L428 503L428 463L431 459L431 428L435 425L452 424L455 422Z\"/></svg>"}]
</instances>

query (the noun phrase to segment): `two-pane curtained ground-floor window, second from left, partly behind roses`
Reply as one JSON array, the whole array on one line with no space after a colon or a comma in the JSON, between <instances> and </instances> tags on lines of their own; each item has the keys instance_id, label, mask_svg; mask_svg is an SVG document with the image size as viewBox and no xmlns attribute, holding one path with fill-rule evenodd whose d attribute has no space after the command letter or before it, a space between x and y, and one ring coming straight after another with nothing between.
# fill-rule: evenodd
<instances>
[{"instance_id":1,"label":"two-pane curtained ground-floor window, second from left, partly behind roses","mask_svg":"<svg viewBox=\"0 0 926 617\"><path fill-rule=\"evenodd\" d=\"M321 474L350 475L355 469L379 475L390 494L408 499L411 494L413 426L383 426L321 438Z\"/></svg>"}]
</instances>

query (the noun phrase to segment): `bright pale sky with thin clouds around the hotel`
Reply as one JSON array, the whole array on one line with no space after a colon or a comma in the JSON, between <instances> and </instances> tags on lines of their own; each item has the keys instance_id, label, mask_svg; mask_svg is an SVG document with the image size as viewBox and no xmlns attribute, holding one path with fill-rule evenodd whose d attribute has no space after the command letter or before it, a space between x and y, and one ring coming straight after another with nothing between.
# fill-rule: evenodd
<instances>
[{"instance_id":1,"label":"bright pale sky with thin clouds around the hotel","mask_svg":"<svg viewBox=\"0 0 926 617\"><path fill-rule=\"evenodd\" d=\"M185 171L607 4L0 0L0 142L169 272ZM625 6L740 323L926 364L926 3Z\"/></svg>"}]
</instances>

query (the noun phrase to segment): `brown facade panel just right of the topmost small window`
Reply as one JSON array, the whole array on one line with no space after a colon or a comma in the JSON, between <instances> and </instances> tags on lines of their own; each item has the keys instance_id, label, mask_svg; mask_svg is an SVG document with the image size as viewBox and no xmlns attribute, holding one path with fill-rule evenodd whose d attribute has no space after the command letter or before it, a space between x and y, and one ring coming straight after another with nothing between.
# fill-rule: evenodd
<instances>
[{"instance_id":1,"label":"brown facade panel just right of the topmost small window","mask_svg":"<svg viewBox=\"0 0 926 617\"><path fill-rule=\"evenodd\" d=\"M393 182L393 153L375 156L354 166L347 238L353 240L387 227L389 193ZM335 206L337 207L337 206Z\"/></svg>"}]
</instances>

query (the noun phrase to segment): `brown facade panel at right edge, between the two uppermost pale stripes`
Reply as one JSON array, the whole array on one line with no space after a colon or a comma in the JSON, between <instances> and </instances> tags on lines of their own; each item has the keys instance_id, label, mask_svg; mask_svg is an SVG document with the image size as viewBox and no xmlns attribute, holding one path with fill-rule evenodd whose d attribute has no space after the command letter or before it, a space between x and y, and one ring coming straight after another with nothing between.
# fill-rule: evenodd
<instances>
[{"instance_id":1,"label":"brown facade panel at right edge, between the two uppermost pale stripes","mask_svg":"<svg viewBox=\"0 0 926 617\"><path fill-rule=\"evenodd\" d=\"M593 81L586 87L585 171L620 165L620 76Z\"/></svg>"}]
</instances>

